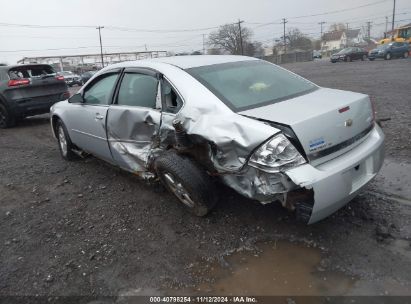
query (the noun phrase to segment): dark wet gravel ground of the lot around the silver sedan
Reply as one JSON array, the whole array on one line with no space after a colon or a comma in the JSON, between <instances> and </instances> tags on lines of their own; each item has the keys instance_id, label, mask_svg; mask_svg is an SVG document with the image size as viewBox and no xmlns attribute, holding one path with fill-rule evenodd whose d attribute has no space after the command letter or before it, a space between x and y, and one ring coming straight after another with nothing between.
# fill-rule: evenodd
<instances>
[{"instance_id":1,"label":"dark wet gravel ground of the lot around the silver sedan","mask_svg":"<svg viewBox=\"0 0 411 304\"><path fill-rule=\"evenodd\" d=\"M273 281L250 286L253 295L411 295L411 60L284 67L369 94L378 117L391 118L383 171L350 204L306 226L220 187L216 209L196 218L159 184L93 157L64 161L47 115L33 117L0 130L0 295L230 293L245 280L233 274L247 258L284 273L302 265L278 274L292 288ZM324 274L333 284L315 285ZM304 292L307 280L316 292Z\"/></svg>"}]
</instances>

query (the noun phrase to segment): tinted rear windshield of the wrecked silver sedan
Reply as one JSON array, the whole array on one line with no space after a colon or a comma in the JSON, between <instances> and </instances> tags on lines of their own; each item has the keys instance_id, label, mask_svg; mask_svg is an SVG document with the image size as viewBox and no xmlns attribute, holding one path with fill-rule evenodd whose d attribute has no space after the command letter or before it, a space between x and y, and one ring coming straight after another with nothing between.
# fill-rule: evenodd
<instances>
[{"instance_id":1,"label":"tinted rear windshield of the wrecked silver sedan","mask_svg":"<svg viewBox=\"0 0 411 304\"><path fill-rule=\"evenodd\" d=\"M317 89L308 80L261 60L216 64L186 71L235 112L273 104Z\"/></svg>"}]
</instances>

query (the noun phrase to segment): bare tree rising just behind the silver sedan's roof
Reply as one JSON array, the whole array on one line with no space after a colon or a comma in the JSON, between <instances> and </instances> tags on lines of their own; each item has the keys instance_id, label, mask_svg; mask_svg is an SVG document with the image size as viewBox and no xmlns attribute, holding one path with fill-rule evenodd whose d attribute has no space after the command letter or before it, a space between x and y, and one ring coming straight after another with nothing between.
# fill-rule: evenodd
<instances>
[{"instance_id":1,"label":"bare tree rising just behind the silver sedan's roof","mask_svg":"<svg viewBox=\"0 0 411 304\"><path fill-rule=\"evenodd\" d=\"M243 41L243 51L246 53L246 46L250 43L252 32L247 27L242 27L241 36L242 39L237 24L225 24L208 36L208 43L215 48L226 50L230 54L240 55L241 40Z\"/></svg>"}]
</instances>

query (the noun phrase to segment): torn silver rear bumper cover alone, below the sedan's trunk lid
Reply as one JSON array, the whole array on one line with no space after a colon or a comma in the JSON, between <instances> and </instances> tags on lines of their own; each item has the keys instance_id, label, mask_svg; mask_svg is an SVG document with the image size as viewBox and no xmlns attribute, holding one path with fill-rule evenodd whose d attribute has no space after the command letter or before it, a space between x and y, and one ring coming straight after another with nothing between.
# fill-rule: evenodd
<instances>
[{"instance_id":1,"label":"torn silver rear bumper cover alone, below the sedan's trunk lid","mask_svg":"<svg viewBox=\"0 0 411 304\"><path fill-rule=\"evenodd\" d=\"M309 164L285 172L296 184L314 191L314 205L308 224L334 213L368 184L384 161L384 134L380 127L349 152L317 167Z\"/></svg>"}]
</instances>

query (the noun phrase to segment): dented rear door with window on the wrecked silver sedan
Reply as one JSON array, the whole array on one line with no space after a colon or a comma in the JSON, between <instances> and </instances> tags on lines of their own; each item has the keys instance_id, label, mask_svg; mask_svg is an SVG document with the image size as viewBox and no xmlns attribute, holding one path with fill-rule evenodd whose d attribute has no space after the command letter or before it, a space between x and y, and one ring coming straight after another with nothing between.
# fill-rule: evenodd
<instances>
[{"instance_id":1,"label":"dented rear door with window on the wrecked silver sedan","mask_svg":"<svg viewBox=\"0 0 411 304\"><path fill-rule=\"evenodd\" d=\"M126 69L107 118L107 136L116 164L134 173L147 171L160 122L161 94L156 72Z\"/></svg>"}]
</instances>

